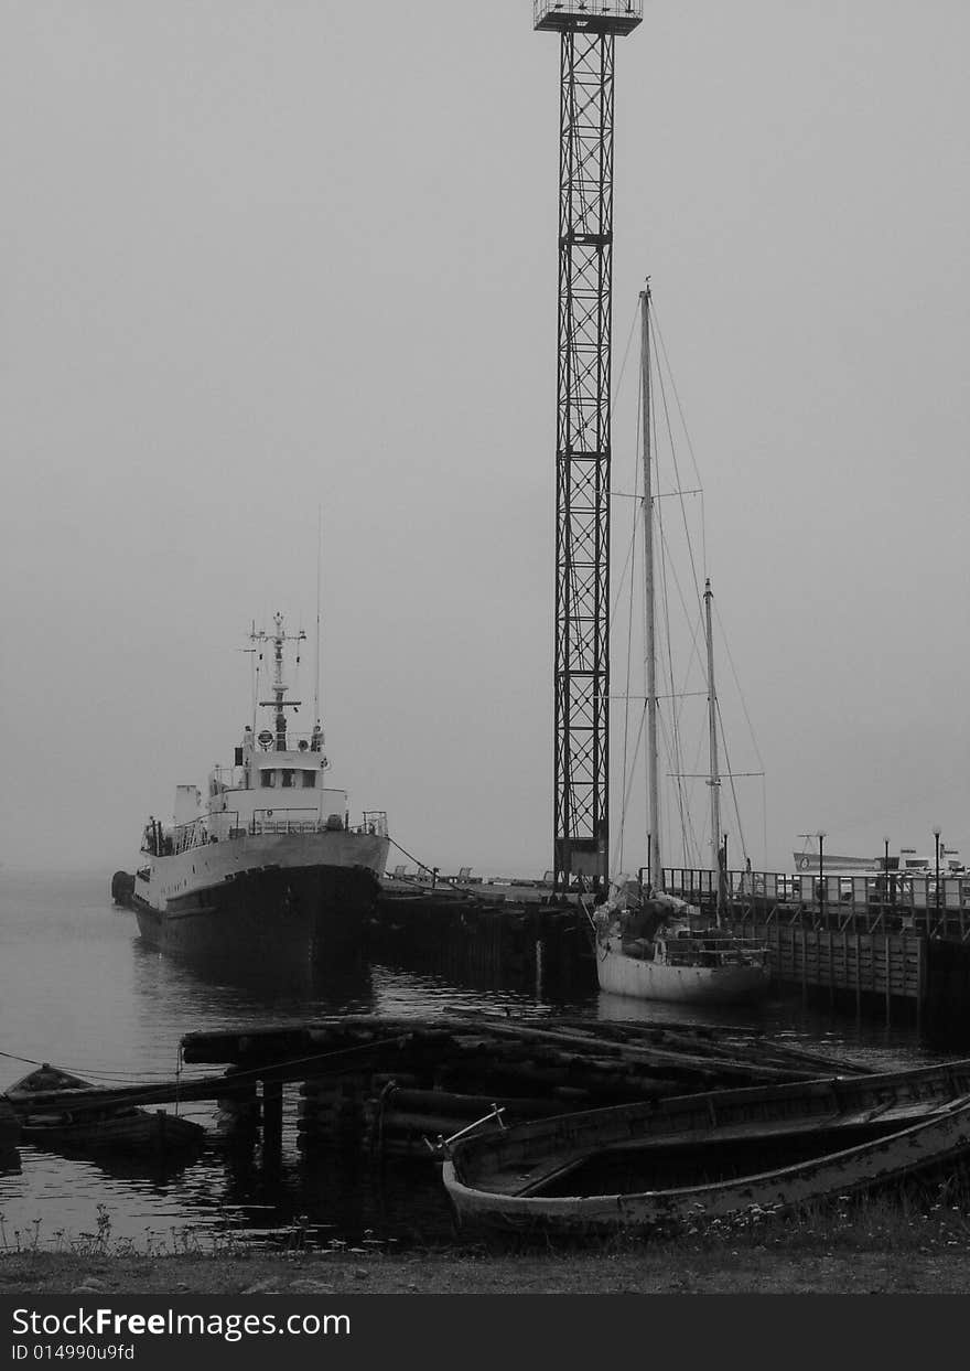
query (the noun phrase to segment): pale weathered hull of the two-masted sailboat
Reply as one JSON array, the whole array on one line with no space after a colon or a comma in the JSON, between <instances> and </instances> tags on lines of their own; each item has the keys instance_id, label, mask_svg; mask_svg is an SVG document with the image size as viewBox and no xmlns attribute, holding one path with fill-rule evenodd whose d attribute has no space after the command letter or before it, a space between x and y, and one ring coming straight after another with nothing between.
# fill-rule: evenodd
<instances>
[{"instance_id":1,"label":"pale weathered hull of the two-masted sailboat","mask_svg":"<svg viewBox=\"0 0 970 1371\"><path fill-rule=\"evenodd\" d=\"M611 941L612 943L612 941ZM658 999L686 1005L741 1004L767 994L771 975L766 965L671 967L629 957L617 946L597 946L596 973L600 990L633 999Z\"/></svg>"}]
</instances>

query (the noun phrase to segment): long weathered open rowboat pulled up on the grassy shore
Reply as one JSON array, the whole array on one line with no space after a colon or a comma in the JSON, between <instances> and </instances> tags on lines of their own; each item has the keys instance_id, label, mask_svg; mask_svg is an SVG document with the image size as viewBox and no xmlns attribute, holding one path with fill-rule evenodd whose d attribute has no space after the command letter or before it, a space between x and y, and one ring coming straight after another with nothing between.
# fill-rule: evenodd
<instances>
[{"instance_id":1,"label":"long weathered open rowboat pulled up on the grassy shore","mask_svg":"<svg viewBox=\"0 0 970 1371\"><path fill-rule=\"evenodd\" d=\"M443 1180L460 1226L649 1231L785 1209L895 1180L970 1148L970 1060L715 1090L478 1132Z\"/></svg>"}]
</instances>

